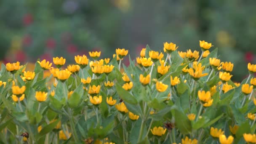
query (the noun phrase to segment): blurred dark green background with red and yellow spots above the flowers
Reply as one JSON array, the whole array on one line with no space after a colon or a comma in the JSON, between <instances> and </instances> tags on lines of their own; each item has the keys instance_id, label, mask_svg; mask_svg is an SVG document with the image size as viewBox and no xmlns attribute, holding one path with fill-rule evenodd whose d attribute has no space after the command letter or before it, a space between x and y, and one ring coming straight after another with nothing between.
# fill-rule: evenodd
<instances>
[{"instance_id":1,"label":"blurred dark green background with red and yellow spots above the flowers","mask_svg":"<svg viewBox=\"0 0 256 144\"><path fill-rule=\"evenodd\" d=\"M219 59L235 64L232 79L256 63L255 0L0 0L0 60L52 61L101 51L111 57L127 48L134 59L147 44L163 51L200 51L199 40L219 48ZM213 48L212 48L213 50Z\"/></svg>"}]
</instances>

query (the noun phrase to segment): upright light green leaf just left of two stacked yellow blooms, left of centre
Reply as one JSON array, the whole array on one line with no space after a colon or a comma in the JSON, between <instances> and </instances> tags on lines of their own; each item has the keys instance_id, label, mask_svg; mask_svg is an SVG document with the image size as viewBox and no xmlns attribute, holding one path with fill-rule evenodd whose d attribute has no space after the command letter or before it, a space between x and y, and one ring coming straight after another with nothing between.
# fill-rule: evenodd
<instances>
[{"instance_id":1,"label":"upright light green leaf just left of two stacked yellow blooms, left of centre","mask_svg":"<svg viewBox=\"0 0 256 144\"><path fill-rule=\"evenodd\" d=\"M81 98L83 96L83 83L80 83L80 85L75 89L75 91L72 93L70 98L68 99L68 104L70 108L75 108L80 105Z\"/></svg>"}]
</instances>

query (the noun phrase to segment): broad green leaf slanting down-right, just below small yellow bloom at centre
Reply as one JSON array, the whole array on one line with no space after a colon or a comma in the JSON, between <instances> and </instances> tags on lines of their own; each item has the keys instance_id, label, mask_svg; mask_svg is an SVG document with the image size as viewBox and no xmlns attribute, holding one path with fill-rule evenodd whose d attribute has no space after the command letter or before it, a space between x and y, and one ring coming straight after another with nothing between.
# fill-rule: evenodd
<instances>
[{"instance_id":1,"label":"broad green leaf slanting down-right, just below small yellow bloom at centre","mask_svg":"<svg viewBox=\"0 0 256 144\"><path fill-rule=\"evenodd\" d=\"M125 102L128 102L130 104L137 104L138 103L138 101L134 98L134 96L131 95L131 93L129 93L128 91L125 91L120 84L116 83L115 86L116 86L118 95Z\"/></svg>"}]
</instances>

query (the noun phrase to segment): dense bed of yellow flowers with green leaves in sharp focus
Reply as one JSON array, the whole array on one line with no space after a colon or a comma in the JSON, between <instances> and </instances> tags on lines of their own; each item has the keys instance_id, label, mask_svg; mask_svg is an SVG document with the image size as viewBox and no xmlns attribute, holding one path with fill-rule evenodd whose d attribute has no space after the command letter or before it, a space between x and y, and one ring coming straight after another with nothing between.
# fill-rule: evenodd
<instances>
[{"instance_id":1,"label":"dense bed of yellow flowers with green leaves in sharp focus","mask_svg":"<svg viewBox=\"0 0 256 144\"><path fill-rule=\"evenodd\" d=\"M202 53L163 51L147 45L128 67L128 50L113 59L101 52L38 60L34 71L19 62L0 71L0 141L3 143L197 144L256 143L256 65L233 83L231 62L217 59L213 45ZM123 71L123 72L121 72ZM51 76L45 77L47 72Z\"/></svg>"}]
</instances>

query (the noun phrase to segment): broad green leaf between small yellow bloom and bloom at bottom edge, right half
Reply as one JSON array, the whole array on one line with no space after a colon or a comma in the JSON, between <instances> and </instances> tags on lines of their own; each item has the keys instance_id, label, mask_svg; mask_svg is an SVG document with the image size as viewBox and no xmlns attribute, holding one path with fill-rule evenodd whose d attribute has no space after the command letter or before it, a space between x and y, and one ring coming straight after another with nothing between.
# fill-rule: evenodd
<instances>
[{"instance_id":1,"label":"broad green leaf between small yellow bloom and bloom at bottom edge, right half","mask_svg":"<svg viewBox=\"0 0 256 144\"><path fill-rule=\"evenodd\" d=\"M175 125L182 134L189 134L192 130L190 120L187 115L178 109L174 109Z\"/></svg>"}]
</instances>

